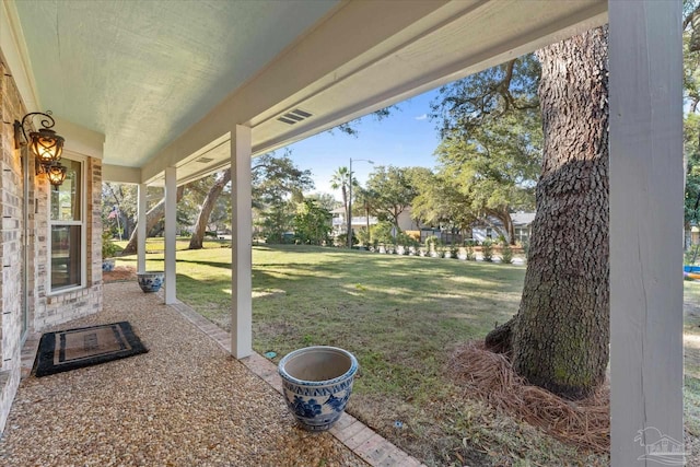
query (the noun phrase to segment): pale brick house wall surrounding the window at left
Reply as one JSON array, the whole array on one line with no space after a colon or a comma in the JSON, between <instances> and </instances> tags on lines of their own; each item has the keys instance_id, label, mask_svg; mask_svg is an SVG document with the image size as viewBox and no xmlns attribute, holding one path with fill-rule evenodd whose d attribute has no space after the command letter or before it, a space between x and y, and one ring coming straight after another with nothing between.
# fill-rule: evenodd
<instances>
[{"instance_id":1,"label":"pale brick house wall surrounding the window at left","mask_svg":"<svg viewBox=\"0 0 700 467\"><path fill-rule=\"evenodd\" d=\"M25 114L36 109L25 107L5 63L0 55L0 432L20 384L20 354L26 335L42 332L102 308L102 161L71 151L70 147L63 151L63 159L82 162L81 173L84 174L81 188L83 277L81 287L52 293L48 266L51 260L49 197L52 188L43 175L35 175L34 159L27 148L15 149L13 121L22 120ZM56 130L61 131L58 126ZM26 174L22 160L25 155L30 156Z\"/></svg>"}]
</instances>

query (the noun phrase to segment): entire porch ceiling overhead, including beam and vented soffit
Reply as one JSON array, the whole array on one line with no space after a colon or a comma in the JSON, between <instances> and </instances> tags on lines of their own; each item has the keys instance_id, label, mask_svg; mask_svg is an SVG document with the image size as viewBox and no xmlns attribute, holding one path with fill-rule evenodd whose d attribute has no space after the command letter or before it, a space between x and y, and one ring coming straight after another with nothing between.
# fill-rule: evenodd
<instances>
[{"instance_id":1,"label":"entire porch ceiling overhead, including beam and vented soffit","mask_svg":"<svg viewBox=\"0 0 700 467\"><path fill-rule=\"evenodd\" d=\"M153 184L226 166L235 125L260 154L607 21L604 0L4 2L32 110L104 135L105 178Z\"/></svg>"}]
</instances>

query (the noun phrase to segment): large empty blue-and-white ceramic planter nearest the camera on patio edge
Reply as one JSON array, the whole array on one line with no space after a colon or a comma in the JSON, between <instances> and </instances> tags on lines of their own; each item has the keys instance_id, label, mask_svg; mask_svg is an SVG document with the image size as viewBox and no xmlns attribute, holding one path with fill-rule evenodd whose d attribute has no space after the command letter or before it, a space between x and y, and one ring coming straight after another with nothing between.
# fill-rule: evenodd
<instances>
[{"instance_id":1,"label":"large empty blue-and-white ceramic planter nearest the camera on patio edge","mask_svg":"<svg viewBox=\"0 0 700 467\"><path fill-rule=\"evenodd\" d=\"M308 431L328 430L342 415L352 393L358 360L337 347L306 347L279 364L287 406Z\"/></svg>"}]
</instances>

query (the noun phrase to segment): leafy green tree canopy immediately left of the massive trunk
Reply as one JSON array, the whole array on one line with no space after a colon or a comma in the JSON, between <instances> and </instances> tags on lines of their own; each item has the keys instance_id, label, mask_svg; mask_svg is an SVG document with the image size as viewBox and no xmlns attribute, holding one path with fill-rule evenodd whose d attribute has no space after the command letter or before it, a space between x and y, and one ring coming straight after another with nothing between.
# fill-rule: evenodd
<instances>
[{"instance_id":1,"label":"leafy green tree canopy immediately left of the massive trunk","mask_svg":"<svg viewBox=\"0 0 700 467\"><path fill-rule=\"evenodd\" d=\"M526 55L442 87L431 104L442 136L438 179L462 201L450 205L453 224L495 218L514 242L511 212L533 209L541 164L539 73L538 61ZM419 199L422 209L429 199ZM444 215L448 205L441 205Z\"/></svg>"}]
</instances>

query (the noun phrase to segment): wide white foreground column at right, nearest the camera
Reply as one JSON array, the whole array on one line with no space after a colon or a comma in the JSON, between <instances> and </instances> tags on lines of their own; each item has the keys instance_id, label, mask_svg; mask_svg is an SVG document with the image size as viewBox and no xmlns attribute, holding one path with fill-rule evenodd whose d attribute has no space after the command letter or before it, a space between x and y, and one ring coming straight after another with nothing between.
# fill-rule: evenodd
<instances>
[{"instance_id":1,"label":"wide white foreground column at right, nearest the camera","mask_svg":"<svg viewBox=\"0 0 700 467\"><path fill-rule=\"evenodd\" d=\"M611 465L680 466L681 1L608 5Z\"/></svg>"}]
</instances>

